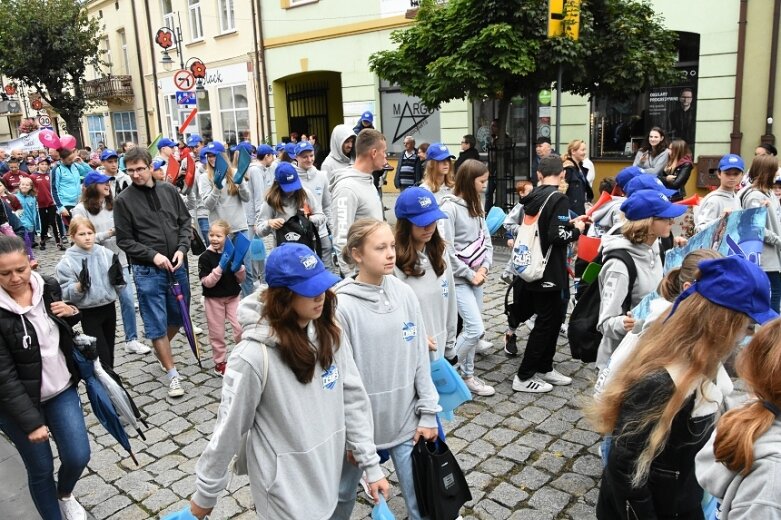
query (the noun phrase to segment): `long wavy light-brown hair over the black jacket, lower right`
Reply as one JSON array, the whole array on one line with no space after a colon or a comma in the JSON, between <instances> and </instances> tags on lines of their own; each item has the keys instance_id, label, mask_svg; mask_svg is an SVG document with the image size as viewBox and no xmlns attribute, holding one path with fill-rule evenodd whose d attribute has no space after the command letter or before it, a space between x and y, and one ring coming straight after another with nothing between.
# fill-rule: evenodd
<instances>
[{"instance_id":1,"label":"long wavy light-brown hair over the black jacket, lower right","mask_svg":"<svg viewBox=\"0 0 781 520\"><path fill-rule=\"evenodd\" d=\"M699 278L699 273L697 275ZM608 383L599 399L587 408L596 430L603 435L632 435L649 430L643 451L635 463L632 484L641 485L654 459L664 449L673 419L691 391L705 378L713 379L719 363L729 355L750 319L694 293L680 303L668 319L656 320L643 334L637 349ZM643 410L642 418L614 432L627 394L638 381L673 365L684 366L669 400Z\"/></svg>"}]
</instances>

